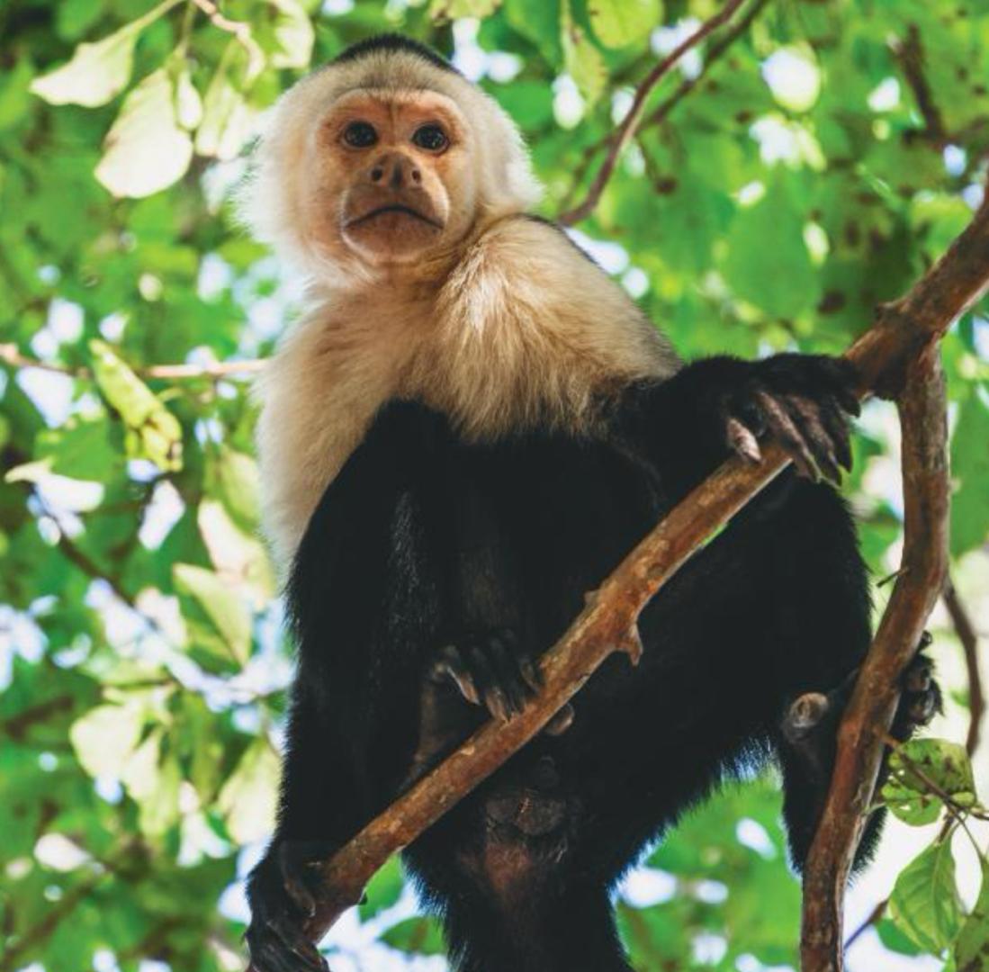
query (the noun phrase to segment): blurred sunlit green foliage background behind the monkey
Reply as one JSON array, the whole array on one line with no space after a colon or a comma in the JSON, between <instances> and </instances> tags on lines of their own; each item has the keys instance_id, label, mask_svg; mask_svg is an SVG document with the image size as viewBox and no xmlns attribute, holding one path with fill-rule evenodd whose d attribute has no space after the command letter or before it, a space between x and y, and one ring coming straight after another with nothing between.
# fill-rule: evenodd
<instances>
[{"instance_id":1,"label":"blurred sunlit green foliage background behind the monkey","mask_svg":"<svg viewBox=\"0 0 989 972\"><path fill-rule=\"evenodd\" d=\"M582 198L634 86L716 10L0 4L2 972L240 967L238 879L271 826L291 672L255 532L246 379L298 281L225 203L264 110L344 45L404 31L454 54L516 119L554 216ZM688 357L838 352L978 204L987 86L979 0L748 0L654 92L576 238ZM985 302L951 329L944 359L952 576L986 631ZM881 577L900 539L891 408L871 403L858 433L846 489ZM934 731L962 741L978 683L951 616L933 629L949 690ZM771 776L735 787L625 882L638 968L795 964L798 886L778 809ZM969 825L984 851L984 827ZM892 822L850 928L938 832ZM950 840L932 844L897 884L892 919L854 944L853 968L989 968L975 947L989 938L989 895L958 939L968 944L955 940L980 860L954 843L957 874ZM444 967L394 863L327 947L337 970ZM969 953L981 964L964 965Z\"/></svg>"}]
</instances>

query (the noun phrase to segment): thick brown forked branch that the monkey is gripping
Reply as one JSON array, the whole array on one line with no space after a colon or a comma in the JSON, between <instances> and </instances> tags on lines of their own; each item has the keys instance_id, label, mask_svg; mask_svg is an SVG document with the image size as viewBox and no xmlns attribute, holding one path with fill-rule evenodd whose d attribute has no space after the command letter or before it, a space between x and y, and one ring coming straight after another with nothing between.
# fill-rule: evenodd
<instances>
[{"instance_id":1,"label":"thick brown forked branch that the monkey is gripping","mask_svg":"<svg viewBox=\"0 0 989 972\"><path fill-rule=\"evenodd\" d=\"M860 396L897 398L914 430L904 450L908 570L897 583L843 720L833 786L805 876L803 972L841 969L840 903L862 809L874 787L881 735L898 697L897 675L941 589L944 389L932 346L987 287L989 200L905 297L878 309L875 324L847 352L861 376ZM928 383L924 394L911 396L911 381ZM729 460L683 499L588 597L584 611L543 657L545 687L539 697L509 722L480 729L321 865L323 894L307 934L321 938L360 900L391 854L536 736L613 651L635 660L642 651L637 623L643 607L786 463L782 450L770 445L762 462Z\"/></svg>"}]
</instances>

